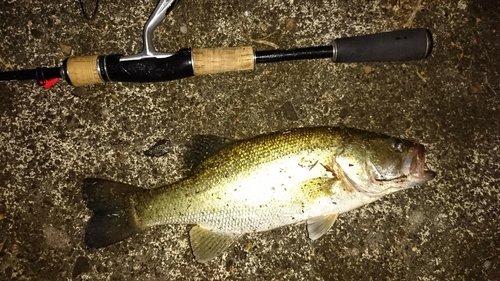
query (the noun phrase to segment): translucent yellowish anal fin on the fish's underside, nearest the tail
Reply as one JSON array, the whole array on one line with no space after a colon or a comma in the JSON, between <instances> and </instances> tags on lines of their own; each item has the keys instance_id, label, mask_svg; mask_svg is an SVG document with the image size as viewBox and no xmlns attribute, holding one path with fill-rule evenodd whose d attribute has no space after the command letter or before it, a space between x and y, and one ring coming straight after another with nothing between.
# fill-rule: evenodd
<instances>
[{"instance_id":1,"label":"translucent yellowish anal fin on the fish's underside, nearest the tail","mask_svg":"<svg viewBox=\"0 0 500 281\"><path fill-rule=\"evenodd\" d=\"M196 260L207 262L224 252L239 234L216 232L197 225L191 228L189 236Z\"/></svg>"}]
</instances>

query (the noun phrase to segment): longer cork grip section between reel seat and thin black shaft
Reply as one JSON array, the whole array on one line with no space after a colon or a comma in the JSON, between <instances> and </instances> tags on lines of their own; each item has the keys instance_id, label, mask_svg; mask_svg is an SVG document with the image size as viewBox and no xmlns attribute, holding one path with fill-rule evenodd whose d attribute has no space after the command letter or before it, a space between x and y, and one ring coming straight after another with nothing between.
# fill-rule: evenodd
<instances>
[{"instance_id":1,"label":"longer cork grip section between reel seat and thin black shaft","mask_svg":"<svg viewBox=\"0 0 500 281\"><path fill-rule=\"evenodd\" d=\"M252 70L255 64L252 47L193 49L191 54L194 75Z\"/></svg>"}]
</instances>

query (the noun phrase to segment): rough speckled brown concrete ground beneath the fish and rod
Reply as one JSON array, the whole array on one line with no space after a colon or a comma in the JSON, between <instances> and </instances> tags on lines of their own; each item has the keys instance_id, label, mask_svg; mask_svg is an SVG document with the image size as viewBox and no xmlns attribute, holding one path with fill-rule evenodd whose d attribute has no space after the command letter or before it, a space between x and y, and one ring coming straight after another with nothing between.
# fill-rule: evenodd
<instances>
[{"instance_id":1,"label":"rough speckled brown concrete ground beneath the fish and rod","mask_svg":"<svg viewBox=\"0 0 500 281\"><path fill-rule=\"evenodd\" d=\"M1 0L0 70L137 53L155 5L100 1L87 21L77 1ZM500 280L499 11L493 0L182 0L159 50L306 47L405 27L428 27L435 48L416 62L296 61L156 84L0 82L0 279ZM186 175L192 135L319 125L416 140L437 177L340 216L317 241L283 227L206 264L188 226L83 243L85 177L154 188ZM166 155L144 155L161 139Z\"/></svg>"}]
</instances>

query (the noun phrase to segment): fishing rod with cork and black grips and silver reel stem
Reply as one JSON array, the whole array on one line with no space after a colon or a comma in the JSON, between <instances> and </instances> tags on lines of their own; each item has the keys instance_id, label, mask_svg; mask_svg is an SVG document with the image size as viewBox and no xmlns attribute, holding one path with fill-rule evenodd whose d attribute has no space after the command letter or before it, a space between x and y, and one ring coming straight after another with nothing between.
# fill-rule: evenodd
<instances>
[{"instance_id":1,"label":"fishing rod with cork and black grips and silver reel stem","mask_svg":"<svg viewBox=\"0 0 500 281\"><path fill-rule=\"evenodd\" d=\"M334 39L326 46L290 50L254 51L252 47L183 48L157 52L153 33L175 0L160 0L143 32L143 50L131 56L96 55L66 58L60 67L0 72L0 81L36 80L44 88L63 78L79 87L104 82L161 82L195 75L252 70L256 64L330 58L336 63L394 62L426 58L433 39L428 29L391 32Z\"/></svg>"}]
</instances>

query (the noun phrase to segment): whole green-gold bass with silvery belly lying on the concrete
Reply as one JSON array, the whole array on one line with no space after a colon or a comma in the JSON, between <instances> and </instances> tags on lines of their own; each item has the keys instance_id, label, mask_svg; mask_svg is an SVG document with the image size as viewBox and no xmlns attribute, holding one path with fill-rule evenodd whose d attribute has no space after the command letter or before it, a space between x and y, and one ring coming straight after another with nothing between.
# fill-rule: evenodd
<instances>
[{"instance_id":1,"label":"whole green-gold bass with silvery belly lying on the concrete","mask_svg":"<svg viewBox=\"0 0 500 281\"><path fill-rule=\"evenodd\" d=\"M159 188L84 179L93 212L85 243L102 248L153 226L193 225L191 249L204 263L247 233L305 223L316 240L340 214L436 175L425 169L423 145L343 127L243 140L198 135L186 155L190 174Z\"/></svg>"}]
</instances>

